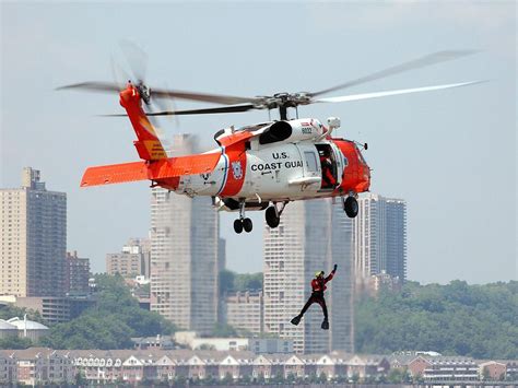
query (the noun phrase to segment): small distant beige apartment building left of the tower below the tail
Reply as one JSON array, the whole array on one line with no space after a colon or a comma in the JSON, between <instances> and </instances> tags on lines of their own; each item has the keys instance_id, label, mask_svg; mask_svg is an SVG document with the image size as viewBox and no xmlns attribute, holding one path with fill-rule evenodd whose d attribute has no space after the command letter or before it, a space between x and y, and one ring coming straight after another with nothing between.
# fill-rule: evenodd
<instances>
[{"instance_id":1,"label":"small distant beige apartment building left of the tower below the tail","mask_svg":"<svg viewBox=\"0 0 518 388\"><path fill-rule=\"evenodd\" d=\"M118 254L106 255L106 272L121 277L150 278L151 239L130 238Z\"/></svg>"}]
</instances>

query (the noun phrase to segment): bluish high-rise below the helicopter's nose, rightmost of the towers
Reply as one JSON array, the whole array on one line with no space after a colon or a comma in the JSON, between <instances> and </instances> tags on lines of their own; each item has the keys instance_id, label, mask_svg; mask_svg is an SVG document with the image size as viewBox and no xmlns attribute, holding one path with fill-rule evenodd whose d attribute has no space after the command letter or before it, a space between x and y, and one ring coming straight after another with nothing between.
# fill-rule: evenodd
<instances>
[{"instance_id":1,"label":"bluish high-rise below the helicopter's nose, rightmost of the towers","mask_svg":"<svg viewBox=\"0 0 518 388\"><path fill-rule=\"evenodd\" d=\"M403 282L407 278L407 203L401 199L365 193L358 198L353 221L356 282L386 273Z\"/></svg>"}]
</instances>

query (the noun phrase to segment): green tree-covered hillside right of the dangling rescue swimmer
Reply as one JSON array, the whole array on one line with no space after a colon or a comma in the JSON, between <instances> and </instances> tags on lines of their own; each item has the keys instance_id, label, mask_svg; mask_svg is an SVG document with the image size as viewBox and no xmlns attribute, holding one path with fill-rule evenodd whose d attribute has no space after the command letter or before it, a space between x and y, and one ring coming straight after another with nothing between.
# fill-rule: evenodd
<instances>
[{"instance_id":1,"label":"green tree-covered hillside right of the dangling rescue swimmer","mask_svg":"<svg viewBox=\"0 0 518 388\"><path fill-rule=\"evenodd\" d=\"M355 345L362 353L434 350L475 358L518 357L518 282L447 285L408 282L357 301Z\"/></svg>"}]
</instances>

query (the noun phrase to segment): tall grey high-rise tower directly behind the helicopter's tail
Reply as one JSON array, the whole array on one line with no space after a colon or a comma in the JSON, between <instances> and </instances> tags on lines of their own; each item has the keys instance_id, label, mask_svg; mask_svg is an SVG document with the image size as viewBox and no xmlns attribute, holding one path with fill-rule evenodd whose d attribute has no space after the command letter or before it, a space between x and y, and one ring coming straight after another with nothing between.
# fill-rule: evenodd
<instances>
[{"instance_id":1,"label":"tall grey high-rise tower directly behind the helicopter's tail","mask_svg":"<svg viewBox=\"0 0 518 388\"><path fill-rule=\"evenodd\" d=\"M195 151L195 143L190 136L174 139L175 149L184 152ZM210 198L153 188L151 309L181 329L208 334L217 321L219 234Z\"/></svg>"}]
</instances>

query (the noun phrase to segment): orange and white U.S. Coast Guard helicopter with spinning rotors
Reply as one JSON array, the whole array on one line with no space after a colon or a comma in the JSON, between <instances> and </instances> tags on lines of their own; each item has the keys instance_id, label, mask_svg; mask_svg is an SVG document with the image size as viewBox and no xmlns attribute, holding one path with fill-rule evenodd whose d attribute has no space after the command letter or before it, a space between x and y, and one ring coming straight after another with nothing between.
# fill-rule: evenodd
<instances>
[{"instance_id":1,"label":"orange and white U.S. Coast Guard helicopter with spinning rotors","mask_svg":"<svg viewBox=\"0 0 518 388\"><path fill-rule=\"evenodd\" d=\"M134 146L142 161L90 167L82 178L82 187L151 180L152 187L160 186L179 195L209 196L219 209L239 212L234 222L234 230L242 233L252 230L252 222L245 214L247 210L266 210L268 225L276 227L284 207L290 201L297 200L340 197L346 215L354 217L358 211L357 195L369 189L370 169L361 152L361 148L366 150L367 144L361 145L352 140L333 137L334 130L340 127L340 119L337 117L328 118L326 125L315 118L290 119L289 108L297 109L301 105L314 103L343 103L471 85L480 81L320 97L333 91L471 52L473 51L435 52L314 93L236 97L150 89L142 78L136 78L137 82L129 81L123 87L117 83L84 82L59 89L119 92L120 105L126 109L126 115L108 116L128 116L138 139ZM191 99L226 106L145 113L143 106L150 107L152 98ZM279 109L280 119L222 129L214 134L217 143L214 150L177 157L170 157L166 153L151 119L154 116L221 114L251 109Z\"/></svg>"}]
</instances>

